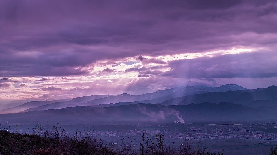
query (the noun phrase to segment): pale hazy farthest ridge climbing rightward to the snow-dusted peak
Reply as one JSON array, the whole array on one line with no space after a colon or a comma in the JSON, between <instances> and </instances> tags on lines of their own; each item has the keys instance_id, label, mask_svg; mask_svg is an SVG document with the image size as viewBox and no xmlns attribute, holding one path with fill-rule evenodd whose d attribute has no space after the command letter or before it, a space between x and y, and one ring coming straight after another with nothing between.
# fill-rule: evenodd
<instances>
[{"instance_id":1,"label":"pale hazy farthest ridge climbing rightward to the snow-dusted peak","mask_svg":"<svg viewBox=\"0 0 277 155\"><path fill-rule=\"evenodd\" d=\"M198 86L200 87L200 86ZM183 86L176 87L165 90L158 90L153 93L146 93L142 95L130 95L130 94L120 94L120 95L94 95L94 96L83 96L78 98L73 98L69 101L57 101L57 102L38 102L39 104L20 105L14 108L5 109L1 111L2 113L11 112L27 112L33 110L47 110L47 109L61 109L66 107L74 106L116 106L116 105L126 105L126 104L136 104L136 103L161 103L163 105L172 105L172 102L164 102L176 97L182 97L186 95L203 94L207 92L224 92L229 90L244 90L245 88L240 87L235 84L222 85L220 87L206 87L206 88L196 88L194 86ZM175 100L175 99L173 99ZM177 102L177 101L176 101ZM205 102L205 101L203 101ZM115 105L113 105L115 104ZM103 106L101 106L103 105Z\"/></svg>"}]
</instances>

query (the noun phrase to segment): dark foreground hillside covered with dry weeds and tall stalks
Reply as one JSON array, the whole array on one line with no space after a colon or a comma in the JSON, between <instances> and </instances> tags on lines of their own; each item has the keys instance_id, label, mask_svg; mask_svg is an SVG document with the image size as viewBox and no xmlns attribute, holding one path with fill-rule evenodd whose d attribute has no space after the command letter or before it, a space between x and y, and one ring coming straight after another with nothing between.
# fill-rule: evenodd
<instances>
[{"instance_id":1,"label":"dark foreground hillside covered with dry weeds and tall stalks","mask_svg":"<svg viewBox=\"0 0 277 155\"><path fill-rule=\"evenodd\" d=\"M144 134L144 133L143 133ZM30 134L0 133L0 154L5 155L223 155L212 153L199 146L192 146L189 141L183 142L183 147L174 148L165 144L161 134L150 143L144 139L143 145L136 146L132 141L125 140L122 135L119 143L104 142L98 137L91 137L81 132L73 136L58 131L44 130Z\"/></svg>"}]
</instances>

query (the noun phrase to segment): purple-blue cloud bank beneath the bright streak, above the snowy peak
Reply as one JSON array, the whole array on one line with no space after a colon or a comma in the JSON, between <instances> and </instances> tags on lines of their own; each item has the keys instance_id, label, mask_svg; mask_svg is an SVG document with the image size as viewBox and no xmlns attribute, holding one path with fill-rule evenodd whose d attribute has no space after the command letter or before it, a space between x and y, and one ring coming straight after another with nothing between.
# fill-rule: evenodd
<instances>
[{"instance_id":1,"label":"purple-blue cloud bank beneath the bright streak, above the snowy peak","mask_svg":"<svg viewBox=\"0 0 277 155\"><path fill-rule=\"evenodd\" d=\"M161 76L184 78L267 78L276 77L273 52L223 55L214 58L171 61L171 70Z\"/></svg>"}]
</instances>

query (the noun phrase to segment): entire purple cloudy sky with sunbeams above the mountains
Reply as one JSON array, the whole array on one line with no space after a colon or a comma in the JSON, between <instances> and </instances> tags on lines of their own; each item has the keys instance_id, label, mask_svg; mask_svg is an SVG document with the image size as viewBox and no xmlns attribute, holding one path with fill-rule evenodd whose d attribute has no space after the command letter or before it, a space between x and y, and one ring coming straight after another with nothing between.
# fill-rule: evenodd
<instances>
[{"instance_id":1,"label":"entire purple cloudy sky with sunbeams above the mountains","mask_svg":"<svg viewBox=\"0 0 277 155\"><path fill-rule=\"evenodd\" d=\"M277 85L277 1L0 1L0 100Z\"/></svg>"}]
</instances>

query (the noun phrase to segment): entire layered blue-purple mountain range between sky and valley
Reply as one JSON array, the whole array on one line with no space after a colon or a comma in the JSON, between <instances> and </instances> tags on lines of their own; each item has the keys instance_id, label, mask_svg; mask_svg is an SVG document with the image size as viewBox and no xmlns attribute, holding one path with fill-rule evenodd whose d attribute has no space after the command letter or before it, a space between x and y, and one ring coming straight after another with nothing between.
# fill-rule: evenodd
<instances>
[{"instance_id":1,"label":"entire layered blue-purple mountain range between sky and valley","mask_svg":"<svg viewBox=\"0 0 277 155\"><path fill-rule=\"evenodd\" d=\"M183 86L142 95L94 95L30 101L1 110L0 121L13 123L134 123L276 120L277 86L246 89ZM14 113L16 112L16 113Z\"/></svg>"}]
</instances>

